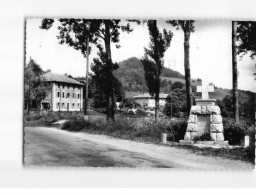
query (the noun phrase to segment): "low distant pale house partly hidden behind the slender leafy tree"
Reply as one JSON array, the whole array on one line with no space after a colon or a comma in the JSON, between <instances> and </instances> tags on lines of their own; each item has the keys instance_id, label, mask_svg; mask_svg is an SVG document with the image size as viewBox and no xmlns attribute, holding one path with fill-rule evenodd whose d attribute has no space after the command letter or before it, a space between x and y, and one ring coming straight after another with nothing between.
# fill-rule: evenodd
<instances>
[{"instance_id":1,"label":"low distant pale house partly hidden behind the slender leafy tree","mask_svg":"<svg viewBox=\"0 0 256 195\"><path fill-rule=\"evenodd\" d=\"M168 94L164 94L164 93L159 94L159 105L160 106L165 105L167 96L168 96ZM134 96L133 98L135 99L135 103L141 105L141 107L143 107L143 108L145 108L145 107L154 108L155 107L155 98L153 96L149 95L149 93L137 95L137 96Z\"/></svg>"}]
</instances>

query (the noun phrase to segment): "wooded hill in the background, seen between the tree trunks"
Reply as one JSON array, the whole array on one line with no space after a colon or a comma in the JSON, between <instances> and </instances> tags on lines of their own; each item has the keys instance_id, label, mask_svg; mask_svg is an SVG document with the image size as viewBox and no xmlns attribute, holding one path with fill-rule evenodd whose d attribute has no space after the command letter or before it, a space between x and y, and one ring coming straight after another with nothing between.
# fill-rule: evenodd
<instances>
[{"instance_id":1,"label":"wooded hill in the background, seen between the tree trunks","mask_svg":"<svg viewBox=\"0 0 256 195\"><path fill-rule=\"evenodd\" d=\"M119 68L114 71L114 75L124 86L126 97L133 97L135 95L148 92L144 78L143 64L138 58L132 57L119 62ZM185 84L184 75L164 67L161 73L161 92L170 93L170 83L173 84L177 81ZM201 85L201 79L192 79L192 87L194 90L198 85ZM214 92L209 93L209 97L212 99L222 100L226 95L231 94L232 90L215 87ZM201 98L201 93L196 93L195 95L196 98ZM251 92L239 90L239 99L242 102L250 101Z\"/></svg>"}]
</instances>

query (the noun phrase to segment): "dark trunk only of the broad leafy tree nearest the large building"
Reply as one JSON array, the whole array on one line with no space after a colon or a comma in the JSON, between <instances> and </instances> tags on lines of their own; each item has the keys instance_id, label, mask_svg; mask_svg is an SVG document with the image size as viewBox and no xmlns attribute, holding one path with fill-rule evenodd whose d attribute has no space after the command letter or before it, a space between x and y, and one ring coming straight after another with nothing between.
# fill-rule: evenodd
<instances>
[{"instance_id":1,"label":"dark trunk only of the broad leafy tree nearest the large building","mask_svg":"<svg viewBox=\"0 0 256 195\"><path fill-rule=\"evenodd\" d=\"M111 118L115 121L115 99L113 92L113 73L112 73L112 57L110 47L110 27L109 20L105 20L105 49L107 54L107 79L108 79L108 93L107 93L107 121Z\"/></svg>"}]
</instances>

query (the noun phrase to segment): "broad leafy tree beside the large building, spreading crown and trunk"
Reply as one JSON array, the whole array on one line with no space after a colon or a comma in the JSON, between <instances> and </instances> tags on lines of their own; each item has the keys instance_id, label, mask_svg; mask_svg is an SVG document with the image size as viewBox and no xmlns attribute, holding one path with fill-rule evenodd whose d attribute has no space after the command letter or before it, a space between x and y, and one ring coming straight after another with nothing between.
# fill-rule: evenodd
<instances>
[{"instance_id":1,"label":"broad leafy tree beside the large building, spreading crown and trunk","mask_svg":"<svg viewBox=\"0 0 256 195\"><path fill-rule=\"evenodd\" d=\"M54 20L44 19L42 21L41 28L49 29L52 26ZM60 43L66 43L71 47L74 47L77 50L80 50L84 56L89 55L91 46L88 46L89 43L95 44L100 52L105 53L106 61L103 64L106 65L105 76L108 79L108 92L106 95L107 101L107 121L111 118L115 120L115 98L113 93L113 67L112 55L111 55L111 43L114 43L117 48L120 47L119 35L120 31L131 32L129 23L122 25L120 20L87 20L87 19L59 19L60 25L59 36ZM89 39L89 41L87 41ZM103 49L104 48L104 49ZM88 61L88 60L87 60Z\"/></svg>"}]
</instances>

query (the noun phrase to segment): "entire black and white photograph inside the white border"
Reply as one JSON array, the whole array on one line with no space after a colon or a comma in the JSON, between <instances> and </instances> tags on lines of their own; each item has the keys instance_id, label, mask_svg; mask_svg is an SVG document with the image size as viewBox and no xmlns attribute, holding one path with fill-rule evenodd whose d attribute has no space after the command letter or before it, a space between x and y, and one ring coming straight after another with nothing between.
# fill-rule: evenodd
<instances>
[{"instance_id":1,"label":"entire black and white photograph inside the white border","mask_svg":"<svg viewBox=\"0 0 256 195\"><path fill-rule=\"evenodd\" d=\"M254 168L256 21L24 26L25 167Z\"/></svg>"}]
</instances>

